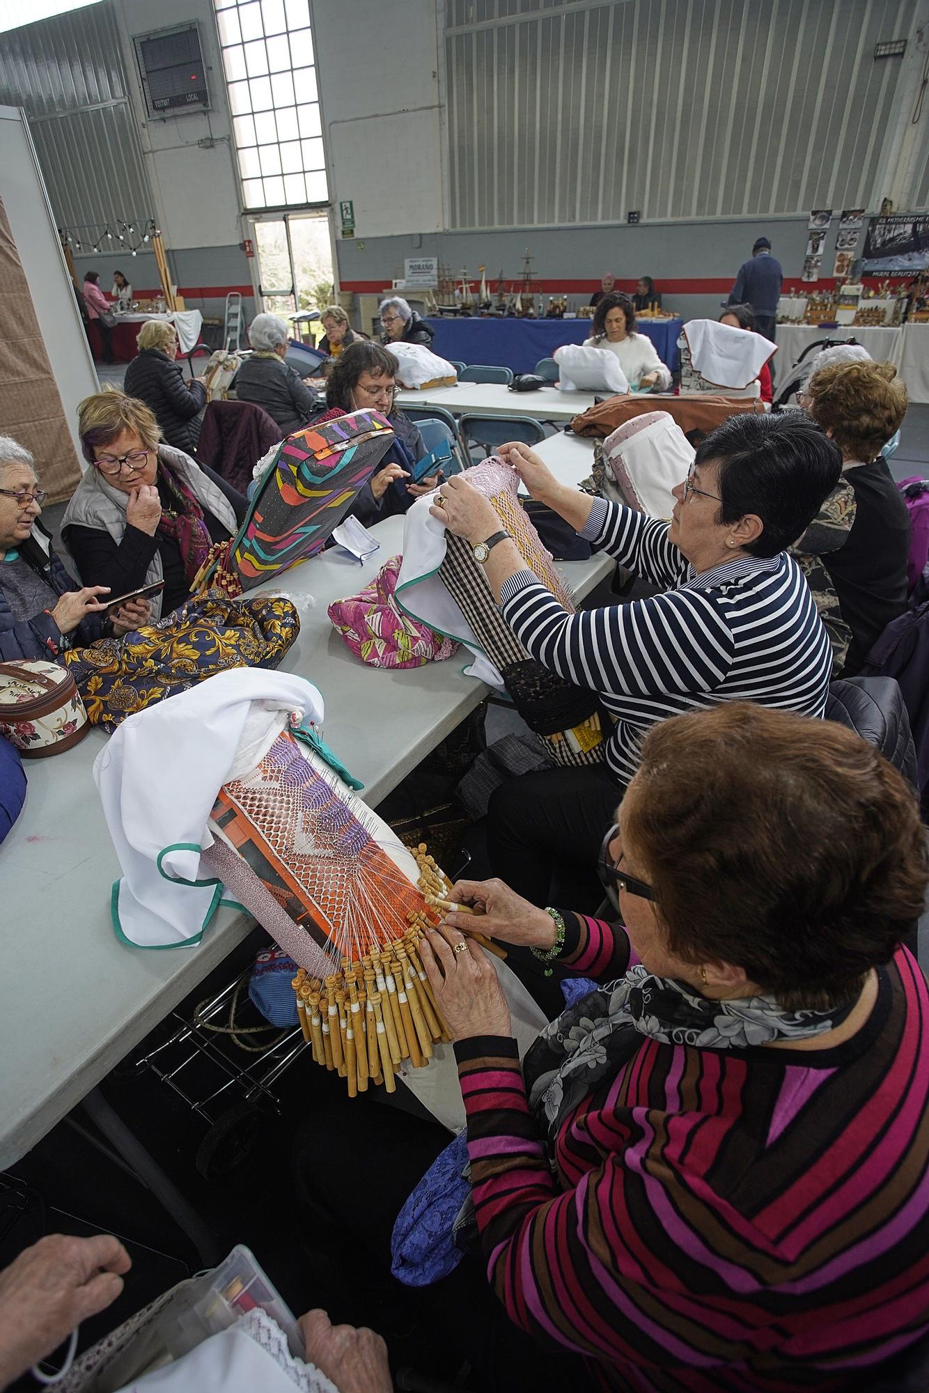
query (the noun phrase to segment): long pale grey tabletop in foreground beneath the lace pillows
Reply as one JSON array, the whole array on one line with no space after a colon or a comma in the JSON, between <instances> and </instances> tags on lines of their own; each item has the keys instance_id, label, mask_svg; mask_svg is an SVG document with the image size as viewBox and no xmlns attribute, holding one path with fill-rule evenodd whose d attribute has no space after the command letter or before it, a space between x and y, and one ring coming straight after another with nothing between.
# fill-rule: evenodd
<instances>
[{"instance_id":1,"label":"long pale grey tabletop in foreground beneath the lace pillows","mask_svg":"<svg viewBox=\"0 0 929 1393\"><path fill-rule=\"evenodd\" d=\"M372 532L379 550L364 564L333 549L262 589L297 603L301 632L281 670L319 687L326 740L364 780L362 797L373 808L487 688L464 676L460 656L396 671L364 667L348 652L327 606L361 591L403 550L404 518L387 518ZM613 561L595 556L560 570L584 596ZM0 848L0 1169L79 1103L253 922L220 910L198 947L152 951L117 942L110 898L120 866L91 772L104 747L106 736L95 729L61 755L29 761L26 804Z\"/></svg>"}]
</instances>

